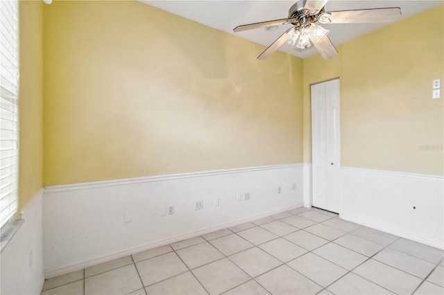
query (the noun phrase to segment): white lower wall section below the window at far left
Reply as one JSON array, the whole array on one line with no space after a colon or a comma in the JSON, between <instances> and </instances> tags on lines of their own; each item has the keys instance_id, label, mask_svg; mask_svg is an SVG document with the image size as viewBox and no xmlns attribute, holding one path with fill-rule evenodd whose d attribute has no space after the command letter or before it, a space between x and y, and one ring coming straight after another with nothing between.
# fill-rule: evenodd
<instances>
[{"instance_id":1,"label":"white lower wall section below the window at far left","mask_svg":"<svg viewBox=\"0 0 444 295\"><path fill-rule=\"evenodd\" d=\"M40 294L44 283L42 195L39 190L24 206L24 220L1 251L0 294Z\"/></svg>"}]
</instances>

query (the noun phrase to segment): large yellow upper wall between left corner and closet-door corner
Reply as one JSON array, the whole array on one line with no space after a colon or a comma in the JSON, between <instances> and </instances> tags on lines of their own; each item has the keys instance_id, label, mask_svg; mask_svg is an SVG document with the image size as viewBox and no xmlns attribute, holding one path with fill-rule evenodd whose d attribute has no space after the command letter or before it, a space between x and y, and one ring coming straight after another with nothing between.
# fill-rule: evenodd
<instances>
[{"instance_id":1,"label":"large yellow upper wall between left corner and closet-door corner","mask_svg":"<svg viewBox=\"0 0 444 295\"><path fill-rule=\"evenodd\" d=\"M302 161L302 60L130 1L44 7L44 185Z\"/></svg>"}]
</instances>

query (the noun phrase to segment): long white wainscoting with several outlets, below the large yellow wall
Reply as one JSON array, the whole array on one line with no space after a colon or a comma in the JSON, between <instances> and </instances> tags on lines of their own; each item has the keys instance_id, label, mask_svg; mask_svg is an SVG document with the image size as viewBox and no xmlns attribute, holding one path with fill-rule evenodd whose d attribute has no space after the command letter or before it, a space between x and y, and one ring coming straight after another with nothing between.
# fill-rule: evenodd
<instances>
[{"instance_id":1,"label":"long white wainscoting with several outlets, below the large yellow wall","mask_svg":"<svg viewBox=\"0 0 444 295\"><path fill-rule=\"evenodd\" d=\"M302 179L303 164L296 163L47 187L45 276L302 206ZM239 193L250 200L237 202ZM203 208L195 210L200 200ZM174 206L174 214L161 216L163 206Z\"/></svg>"}]
</instances>

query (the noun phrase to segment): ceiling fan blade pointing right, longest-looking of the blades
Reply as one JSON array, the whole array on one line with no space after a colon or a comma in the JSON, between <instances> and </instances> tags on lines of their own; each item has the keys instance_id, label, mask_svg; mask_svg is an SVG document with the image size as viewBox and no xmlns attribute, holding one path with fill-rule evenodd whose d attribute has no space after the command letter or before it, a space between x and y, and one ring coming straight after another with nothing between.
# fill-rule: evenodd
<instances>
[{"instance_id":1,"label":"ceiling fan blade pointing right, longest-looking of the blades","mask_svg":"<svg viewBox=\"0 0 444 295\"><path fill-rule=\"evenodd\" d=\"M401 16L399 7L325 12L331 24L388 23ZM323 21L321 21L323 22ZM325 22L327 24L327 22Z\"/></svg>"}]
</instances>

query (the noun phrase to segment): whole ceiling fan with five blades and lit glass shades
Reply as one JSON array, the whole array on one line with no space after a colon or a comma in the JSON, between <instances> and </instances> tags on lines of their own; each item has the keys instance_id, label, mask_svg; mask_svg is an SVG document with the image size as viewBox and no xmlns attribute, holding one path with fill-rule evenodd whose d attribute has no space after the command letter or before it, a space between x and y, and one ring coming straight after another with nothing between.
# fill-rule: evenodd
<instances>
[{"instance_id":1,"label":"whole ceiling fan with five blades and lit glass shades","mask_svg":"<svg viewBox=\"0 0 444 295\"><path fill-rule=\"evenodd\" d=\"M264 60L274 53L282 44L287 42L296 49L309 48L313 43L316 50L326 60L335 57L338 51L327 37L330 30L326 30L320 24L349 24L349 23L388 23L395 21L401 15L401 9L375 8L363 10L342 10L325 12L324 6L328 0L300 0L291 6L287 19L275 19L262 21L255 24L246 24L234 28L234 32L251 30L253 28L271 28L283 24L291 24L273 44L268 46L257 58ZM311 42L311 43L310 43Z\"/></svg>"}]
</instances>

